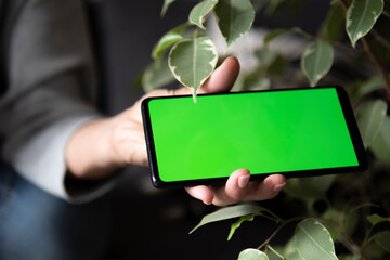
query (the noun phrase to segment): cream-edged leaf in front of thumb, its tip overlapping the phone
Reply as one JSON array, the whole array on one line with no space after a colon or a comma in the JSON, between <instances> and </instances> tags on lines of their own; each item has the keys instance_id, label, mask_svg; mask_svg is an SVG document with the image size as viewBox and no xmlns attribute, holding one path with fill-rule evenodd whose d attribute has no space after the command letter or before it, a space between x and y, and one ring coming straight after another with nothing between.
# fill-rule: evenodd
<instances>
[{"instance_id":1,"label":"cream-edged leaf in front of thumb, its tip overlapping the phone","mask_svg":"<svg viewBox=\"0 0 390 260\"><path fill-rule=\"evenodd\" d=\"M168 57L173 76L193 91L196 91L213 72L218 61L216 46L209 37L181 40L176 43Z\"/></svg>"}]
</instances>

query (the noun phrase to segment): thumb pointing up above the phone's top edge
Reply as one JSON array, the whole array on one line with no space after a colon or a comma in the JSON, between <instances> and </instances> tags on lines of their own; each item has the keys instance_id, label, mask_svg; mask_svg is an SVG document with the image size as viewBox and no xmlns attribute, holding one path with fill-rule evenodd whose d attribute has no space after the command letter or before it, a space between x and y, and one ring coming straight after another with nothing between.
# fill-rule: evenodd
<instances>
[{"instance_id":1,"label":"thumb pointing up above the phone's top edge","mask_svg":"<svg viewBox=\"0 0 390 260\"><path fill-rule=\"evenodd\" d=\"M232 89L239 73L238 60L234 56L227 57L224 62L212 73L206 82L197 90L202 93L218 93L227 92ZM191 94L188 88L180 88L172 90L171 94L182 95Z\"/></svg>"}]
</instances>

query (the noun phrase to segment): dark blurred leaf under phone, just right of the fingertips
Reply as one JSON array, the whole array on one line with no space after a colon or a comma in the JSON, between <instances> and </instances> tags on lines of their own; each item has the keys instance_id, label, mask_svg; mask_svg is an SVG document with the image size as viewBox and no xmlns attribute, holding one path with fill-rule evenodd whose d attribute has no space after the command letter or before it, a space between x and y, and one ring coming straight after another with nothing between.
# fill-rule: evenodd
<instances>
[{"instance_id":1,"label":"dark blurred leaf under phone, just right of the fingertips","mask_svg":"<svg viewBox=\"0 0 390 260\"><path fill-rule=\"evenodd\" d=\"M302 200L322 199L335 181L335 176L288 179L283 191Z\"/></svg>"}]
</instances>

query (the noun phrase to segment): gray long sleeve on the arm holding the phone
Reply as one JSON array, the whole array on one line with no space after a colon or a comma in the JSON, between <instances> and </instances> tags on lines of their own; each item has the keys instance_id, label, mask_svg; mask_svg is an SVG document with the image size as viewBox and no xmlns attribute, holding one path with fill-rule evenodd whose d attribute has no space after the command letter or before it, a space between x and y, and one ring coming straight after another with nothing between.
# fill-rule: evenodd
<instances>
[{"instance_id":1,"label":"gray long sleeve on the arm holding the phone","mask_svg":"<svg viewBox=\"0 0 390 260\"><path fill-rule=\"evenodd\" d=\"M80 0L25 1L11 30L9 86L0 100L2 158L42 190L75 203L113 185L96 182L82 191L65 182L68 139L100 117L83 9Z\"/></svg>"}]
</instances>

